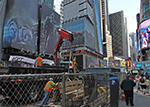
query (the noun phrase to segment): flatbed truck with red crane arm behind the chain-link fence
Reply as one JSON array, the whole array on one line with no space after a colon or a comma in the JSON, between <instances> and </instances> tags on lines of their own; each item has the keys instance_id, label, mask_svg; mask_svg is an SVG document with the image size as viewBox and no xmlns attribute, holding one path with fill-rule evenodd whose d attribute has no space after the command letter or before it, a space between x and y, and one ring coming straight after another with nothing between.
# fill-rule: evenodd
<instances>
[{"instance_id":1,"label":"flatbed truck with red crane arm behind the chain-link fence","mask_svg":"<svg viewBox=\"0 0 150 107\"><path fill-rule=\"evenodd\" d=\"M29 68L29 67L0 67L0 94L4 100L13 101L13 103L29 103L41 100L41 97L44 95L42 93L43 87L45 86L48 78L46 77L33 77L30 74L44 74L44 73L63 73L66 72L65 66L60 66L58 64L58 52L60 51L60 47L62 46L63 39L67 39L73 42L73 35L71 32L59 29L58 33L60 35L56 47L54 50L55 55L55 65L42 67L42 68ZM68 68L67 68L68 69ZM5 77L10 75L11 77ZM17 75L29 75L29 76L20 76ZM5 78L3 78L5 77ZM6 79L7 78L7 79ZM32 85L29 85L29 80L32 80ZM60 76L54 78L54 82L62 81ZM36 85L42 83L40 87Z\"/></svg>"}]
</instances>

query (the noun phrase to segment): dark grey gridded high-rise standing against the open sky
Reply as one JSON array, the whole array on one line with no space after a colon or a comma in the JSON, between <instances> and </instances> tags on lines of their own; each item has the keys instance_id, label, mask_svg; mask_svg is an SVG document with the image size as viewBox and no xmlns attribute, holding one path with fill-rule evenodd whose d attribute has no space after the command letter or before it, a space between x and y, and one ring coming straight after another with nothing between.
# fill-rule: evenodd
<instances>
[{"instance_id":1,"label":"dark grey gridded high-rise standing against the open sky","mask_svg":"<svg viewBox=\"0 0 150 107\"><path fill-rule=\"evenodd\" d=\"M112 35L113 55L124 59L129 57L129 37L127 21L124 12L119 11L109 15L110 34Z\"/></svg>"}]
</instances>

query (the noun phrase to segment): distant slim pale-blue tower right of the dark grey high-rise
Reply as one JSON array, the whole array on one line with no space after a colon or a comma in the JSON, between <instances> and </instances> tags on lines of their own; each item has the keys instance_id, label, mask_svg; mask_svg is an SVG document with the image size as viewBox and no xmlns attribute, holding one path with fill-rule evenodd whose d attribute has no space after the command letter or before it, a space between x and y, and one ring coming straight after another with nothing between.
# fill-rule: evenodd
<instances>
[{"instance_id":1,"label":"distant slim pale-blue tower right of the dark grey high-rise","mask_svg":"<svg viewBox=\"0 0 150 107\"><path fill-rule=\"evenodd\" d=\"M136 54L137 53L136 35L135 35L134 32L132 32L132 33L129 33L129 36L132 39L132 52L133 52L132 59L133 59L133 61L136 61L136 58L137 58L137 54Z\"/></svg>"}]
</instances>

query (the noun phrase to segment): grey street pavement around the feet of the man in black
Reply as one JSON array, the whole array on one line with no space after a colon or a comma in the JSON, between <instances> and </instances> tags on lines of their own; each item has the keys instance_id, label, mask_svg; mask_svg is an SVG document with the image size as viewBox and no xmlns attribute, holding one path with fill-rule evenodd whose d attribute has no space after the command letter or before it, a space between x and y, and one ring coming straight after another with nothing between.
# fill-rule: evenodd
<instances>
[{"instance_id":1,"label":"grey street pavement around the feet of the man in black","mask_svg":"<svg viewBox=\"0 0 150 107\"><path fill-rule=\"evenodd\" d=\"M142 92L136 92L134 90L134 107L150 107L150 94L143 94ZM119 107L133 107L126 106L125 100L119 100Z\"/></svg>"}]
</instances>

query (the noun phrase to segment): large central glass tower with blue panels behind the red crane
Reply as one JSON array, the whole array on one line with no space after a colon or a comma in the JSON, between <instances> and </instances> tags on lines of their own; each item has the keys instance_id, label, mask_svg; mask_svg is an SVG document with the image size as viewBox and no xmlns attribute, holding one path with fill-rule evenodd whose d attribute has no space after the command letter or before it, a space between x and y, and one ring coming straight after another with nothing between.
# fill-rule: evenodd
<instances>
[{"instance_id":1,"label":"large central glass tower with blue panels behind the red crane","mask_svg":"<svg viewBox=\"0 0 150 107\"><path fill-rule=\"evenodd\" d=\"M62 27L82 34L74 36L72 47L76 62L83 69L99 66L103 59L100 3L100 0L63 0L61 4ZM69 46L69 41L65 41L62 53L64 56L68 56Z\"/></svg>"}]
</instances>

